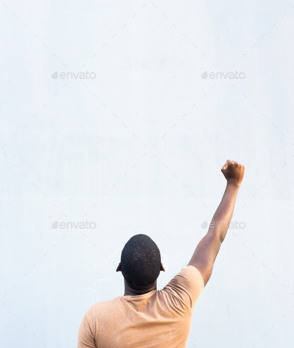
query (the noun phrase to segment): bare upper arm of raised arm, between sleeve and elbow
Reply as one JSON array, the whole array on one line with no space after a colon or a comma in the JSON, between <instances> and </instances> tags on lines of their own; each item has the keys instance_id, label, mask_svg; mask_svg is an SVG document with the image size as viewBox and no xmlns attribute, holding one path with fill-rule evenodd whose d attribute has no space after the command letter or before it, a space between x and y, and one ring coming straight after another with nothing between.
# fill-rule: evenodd
<instances>
[{"instance_id":1,"label":"bare upper arm of raised arm, between sleeve and elbow","mask_svg":"<svg viewBox=\"0 0 294 348\"><path fill-rule=\"evenodd\" d=\"M209 281L212 274L212 268L215 258L221 245L220 238L217 234L206 234L198 243L193 256L188 265L194 266L201 273L204 280L204 286Z\"/></svg>"}]
</instances>

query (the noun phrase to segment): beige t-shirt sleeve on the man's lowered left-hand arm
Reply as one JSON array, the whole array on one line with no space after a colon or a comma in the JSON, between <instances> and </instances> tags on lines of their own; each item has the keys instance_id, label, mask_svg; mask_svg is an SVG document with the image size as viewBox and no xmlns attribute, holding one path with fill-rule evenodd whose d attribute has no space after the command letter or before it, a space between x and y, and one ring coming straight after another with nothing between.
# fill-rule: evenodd
<instances>
[{"instance_id":1,"label":"beige t-shirt sleeve on the man's lowered left-hand arm","mask_svg":"<svg viewBox=\"0 0 294 348\"><path fill-rule=\"evenodd\" d=\"M96 348L92 307L86 312L80 324L77 348Z\"/></svg>"}]
</instances>

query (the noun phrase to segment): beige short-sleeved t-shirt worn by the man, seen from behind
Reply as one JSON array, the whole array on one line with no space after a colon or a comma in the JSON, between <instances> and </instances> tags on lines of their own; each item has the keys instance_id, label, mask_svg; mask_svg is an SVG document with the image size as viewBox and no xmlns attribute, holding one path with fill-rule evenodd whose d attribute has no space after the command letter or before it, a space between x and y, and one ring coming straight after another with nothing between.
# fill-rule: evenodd
<instances>
[{"instance_id":1,"label":"beige short-sleeved t-shirt worn by the man, seen from behind","mask_svg":"<svg viewBox=\"0 0 294 348\"><path fill-rule=\"evenodd\" d=\"M203 289L200 272L187 266L161 290L99 302L84 315L78 348L185 348Z\"/></svg>"}]
</instances>

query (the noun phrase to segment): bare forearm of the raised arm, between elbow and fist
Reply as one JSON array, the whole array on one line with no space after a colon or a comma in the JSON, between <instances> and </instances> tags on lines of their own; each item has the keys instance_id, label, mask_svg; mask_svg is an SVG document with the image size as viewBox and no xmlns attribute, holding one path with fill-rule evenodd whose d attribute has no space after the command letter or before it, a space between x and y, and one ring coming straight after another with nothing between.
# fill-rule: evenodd
<instances>
[{"instance_id":1,"label":"bare forearm of the raised arm, between elbow and fist","mask_svg":"<svg viewBox=\"0 0 294 348\"><path fill-rule=\"evenodd\" d=\"M227 183L227 187L224 192L223 198L217 210L215 211L211 223L209 225L207 235L218 236L221 243L225 239L226 233L230 225L230 221L232 219L239 187L240 185L237 185L236 183Z\"/></svg>"}]
</instances>

